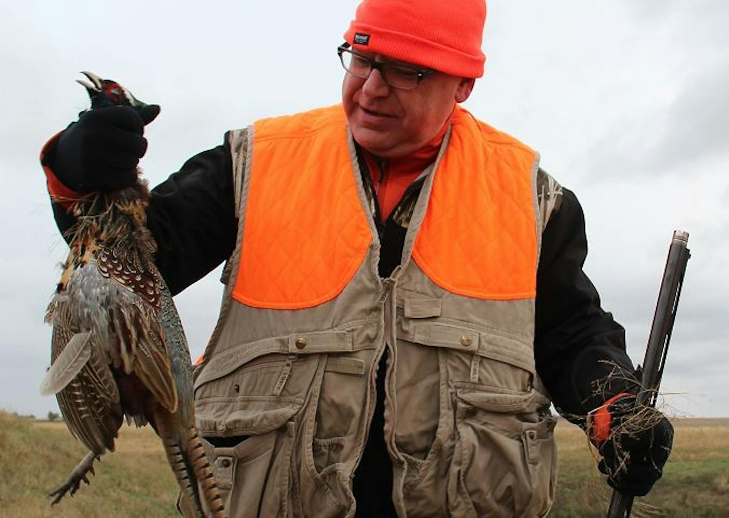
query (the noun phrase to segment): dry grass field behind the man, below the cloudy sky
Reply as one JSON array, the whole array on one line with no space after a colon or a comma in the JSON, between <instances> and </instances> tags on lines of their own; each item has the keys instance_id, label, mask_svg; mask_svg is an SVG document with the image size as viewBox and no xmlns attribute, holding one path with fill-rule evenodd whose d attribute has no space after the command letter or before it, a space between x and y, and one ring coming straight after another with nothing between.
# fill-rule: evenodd
<instances>
[{"instance_id":1,"label":"dry grass field behind the man, below the cloudy sky","mask_svg":"<svg viewBox=\"0 0 729 518\"><path fill-rule=\"evenodd\" d=\"M675 420L665 474L634 517L729 517L729 419ZM557 427L560 478L552 518L604 518L609 487L578 428ZM0 515L4 518L175 517L176 484L149 428L122 428L117 452L96 468L91 486L50 507L46 494L85 454L63 423L0 412Z\"/></svg>"}]
</instances>

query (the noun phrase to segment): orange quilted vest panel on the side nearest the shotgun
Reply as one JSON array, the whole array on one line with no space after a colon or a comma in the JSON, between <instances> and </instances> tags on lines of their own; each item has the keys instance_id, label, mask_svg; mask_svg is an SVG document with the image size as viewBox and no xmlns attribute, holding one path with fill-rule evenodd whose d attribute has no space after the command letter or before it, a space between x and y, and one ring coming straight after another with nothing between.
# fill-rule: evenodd
<instances>
[{"instance_id":1,"label":"orange quilted vest panel on the side nearest the shotgun","mask_svg":"<svg viewBox=\"0 0 729 518\"><path fill-rule=\"evenodd\" d=\"M527 146L456 109L413 247L434 283L478 299L535 296L535 160Z\"/></svg>"}]
</instances>

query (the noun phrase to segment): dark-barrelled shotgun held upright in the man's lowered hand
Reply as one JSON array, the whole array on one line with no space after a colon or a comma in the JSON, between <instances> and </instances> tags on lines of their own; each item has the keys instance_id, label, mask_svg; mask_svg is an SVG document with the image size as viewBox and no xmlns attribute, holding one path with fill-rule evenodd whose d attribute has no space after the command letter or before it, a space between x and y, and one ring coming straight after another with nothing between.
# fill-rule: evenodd
<instances>
[{"instance_id":1,"label":"dark-barrelled shotgun held upright in the man's lowered hand","mask_svg":"<svg viewBox=\"0 0 729 518\"><path fill-rule=\"evenodd\" d=\"M668 248L666 270L663 271L663 282L660 283L658 303L655 306L648 346L645 350L641 390L637 397L638 404L655 407L655 401L658 398L658 387L660 378L663 376L663 366L666 364L668 342L671 341L671 331L674 328L686 264L691 256L687 244L688 232L675 230L671 246ZM638 369L640 371L641 367L639 366ZM632 506L632 495L613 490L607 518L629 518Z\"/></svg>"}]
</instances>

